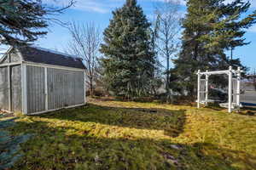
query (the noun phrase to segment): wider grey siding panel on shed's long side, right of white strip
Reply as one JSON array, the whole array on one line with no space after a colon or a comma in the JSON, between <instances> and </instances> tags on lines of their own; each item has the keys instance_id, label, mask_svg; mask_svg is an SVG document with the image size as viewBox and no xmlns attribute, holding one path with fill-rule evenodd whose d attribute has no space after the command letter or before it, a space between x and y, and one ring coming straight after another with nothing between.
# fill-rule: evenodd
<instances>
[{"instance_id":1,"label":"wider grey siding panel on shed's long side, right of white strip","mask_svg":"<svg viewBox=\"0 0 256 170\"><path fill-rule=\"evenodd\" d=\"M48 68L49 110L84 104L84 72Z\"/></svg>"}]
</instances>

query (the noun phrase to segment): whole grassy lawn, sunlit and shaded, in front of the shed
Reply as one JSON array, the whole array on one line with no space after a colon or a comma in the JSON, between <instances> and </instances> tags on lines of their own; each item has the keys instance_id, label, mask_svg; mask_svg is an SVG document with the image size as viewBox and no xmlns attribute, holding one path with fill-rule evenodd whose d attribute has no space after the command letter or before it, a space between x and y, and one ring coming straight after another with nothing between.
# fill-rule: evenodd
<instances>
[{"instance_id":1,"label":"whole grassy lawn, sunlit and shaded, in front of the shed","mask_svg":"<svg viewBox=\"0 0 256 170\"><path fill-rule=\"evenodd\" d=\"M13 169L256 169L256 116L94 100L13 122Z\"/></svg>"}]
</instances>

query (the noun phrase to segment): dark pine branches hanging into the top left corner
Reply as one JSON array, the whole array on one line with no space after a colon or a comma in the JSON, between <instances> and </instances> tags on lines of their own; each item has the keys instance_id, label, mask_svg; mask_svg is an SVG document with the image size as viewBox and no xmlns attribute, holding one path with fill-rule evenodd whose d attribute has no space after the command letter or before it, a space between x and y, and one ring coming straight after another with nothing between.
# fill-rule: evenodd
<instances>
[{"instance_id":1,"label":"dark pine branches hanging into the top left corner","mask_svg":"<svg viewBox=\"0 0 256 170\"><path fill-rule=\"evenodd\" d=\"M65 8L73 3L70 0ZM65 8L48 7L42 0L0 0L0 43L15 46L36 41L47 34L45 28L53 20L49 15Z\"/></svg>"}]
</instances>

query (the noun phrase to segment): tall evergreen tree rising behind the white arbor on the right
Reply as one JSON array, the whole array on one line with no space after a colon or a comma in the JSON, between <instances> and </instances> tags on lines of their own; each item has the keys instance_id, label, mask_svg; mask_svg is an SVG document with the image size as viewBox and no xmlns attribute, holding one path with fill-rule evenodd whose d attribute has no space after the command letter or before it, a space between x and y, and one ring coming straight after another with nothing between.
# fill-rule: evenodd
<instances>
[{"instance_id":1,"label":"tall evergreen tree rising behind the white arbor on the right","mask_svg":"<svg viewBox=\"0 0 256 170\"><path fill-rule=\"evenodd\" d=\"M174 60L172 81L179 91L195 94L197 70L222 70L229 65L241 66L239 59L229 59L225 51L246 45L245 29L256 20L256 12L241 17L250 3L235 0L188 0L188 14L183 19L182 51ZM214 82L223 84L220 77ZM183 87L183 88L182 88Z\"/></svg>"}]
</instances>

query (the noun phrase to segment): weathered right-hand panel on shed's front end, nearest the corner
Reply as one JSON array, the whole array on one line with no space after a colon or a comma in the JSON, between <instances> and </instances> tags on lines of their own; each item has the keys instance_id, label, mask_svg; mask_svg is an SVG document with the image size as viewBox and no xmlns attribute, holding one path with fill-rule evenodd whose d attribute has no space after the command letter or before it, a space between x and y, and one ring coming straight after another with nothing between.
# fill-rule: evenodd
<instances>
[{"instance_id":1,"label":"weathered right-hand panel on shed's front end, nearest the corner","mask_svg":"<svg viewBox=\"0 0 256 170\"><path fill-rule=\"evenodd\" d=\"M11 107L12 111L22 111L21 65L11 66Z\"/></svg>"}]
</instances>

